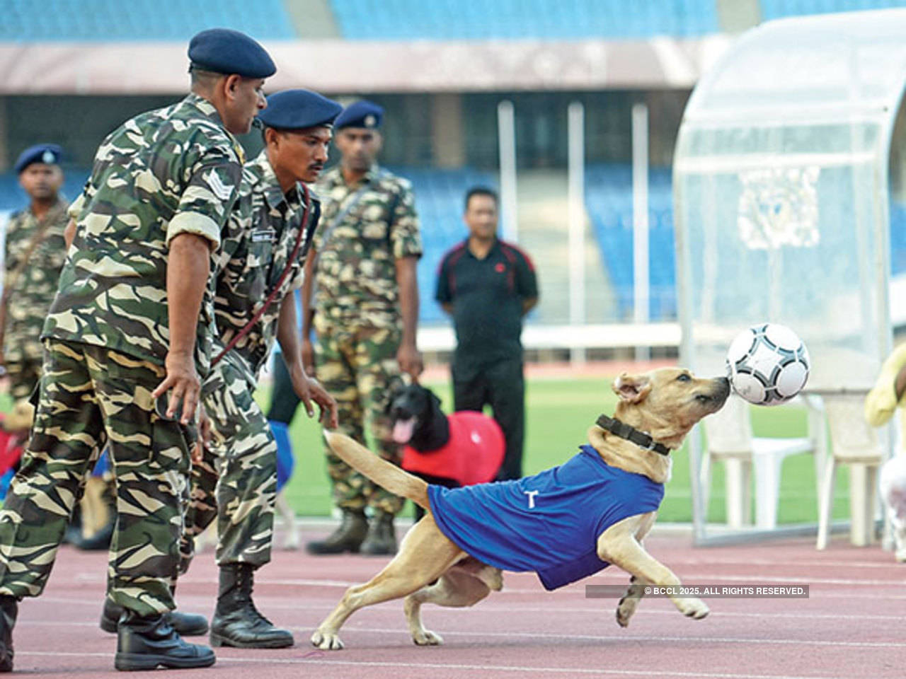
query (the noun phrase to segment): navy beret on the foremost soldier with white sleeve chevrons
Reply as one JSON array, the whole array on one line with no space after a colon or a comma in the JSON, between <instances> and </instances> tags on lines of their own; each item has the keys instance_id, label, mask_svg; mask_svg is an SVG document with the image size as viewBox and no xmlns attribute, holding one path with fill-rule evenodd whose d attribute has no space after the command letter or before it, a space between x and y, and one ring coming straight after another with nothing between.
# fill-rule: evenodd
<instances>
[{"instance_id":1,"label":"navy beret on the foremost soldier with white sleeve chevrons","mask_svg":"<svg viewBox=\"0 0 906 679\"><path fill-rule=\"evenodd\" d=\"M236 73L244 78L269 78L277 71L270 54L246 33L210 28L188 43L192 68L215 73Z\"/></svg>"}]
</instances>

